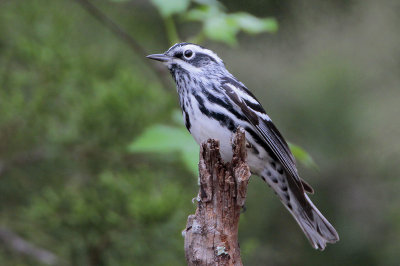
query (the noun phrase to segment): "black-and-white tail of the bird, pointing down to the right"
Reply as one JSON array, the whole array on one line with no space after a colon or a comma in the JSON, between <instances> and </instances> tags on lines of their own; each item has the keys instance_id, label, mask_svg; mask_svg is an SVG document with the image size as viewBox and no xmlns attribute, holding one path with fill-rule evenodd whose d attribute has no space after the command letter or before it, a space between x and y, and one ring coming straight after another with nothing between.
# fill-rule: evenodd
<instances>
[{"instance_id":1,"label":"black-and-white tail of the bird, pointing down to the right","mask_svg":"<svg viewBox=\"0 0 400 266\"><path fill-rule=\"evenodd\" d=\"M278 178L265 176L263 179L276 192L315 249L324 250L327 243L339 241L335 228L315 207L305 191L294 184L294 180L286 179L285 176ZM304 188L312 192L307 183L304 183Z\"/></svg>"}]
</instances>

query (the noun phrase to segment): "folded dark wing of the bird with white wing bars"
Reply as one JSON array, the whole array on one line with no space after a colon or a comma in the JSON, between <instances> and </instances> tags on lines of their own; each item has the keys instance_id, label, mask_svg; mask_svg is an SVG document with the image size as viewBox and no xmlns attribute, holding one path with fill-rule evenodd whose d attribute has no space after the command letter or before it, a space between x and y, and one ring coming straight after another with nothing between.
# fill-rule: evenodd
<instances>
[{"instance_id":1,"label":"folded dark wing of the bird with white wing bars","mask_svg":"<svg viewBox=\"0 0 400 266\"><path fill-rule=\"evenodd\" d=\"M254 95L244 85L232 79L223 83L222 89L242 110L250 124L255 127L257 134L265 141L286 172L296 181L299 188L304 189L303 182L297 173L296 161L289 146Z\"/></svg>"}]
</instances>

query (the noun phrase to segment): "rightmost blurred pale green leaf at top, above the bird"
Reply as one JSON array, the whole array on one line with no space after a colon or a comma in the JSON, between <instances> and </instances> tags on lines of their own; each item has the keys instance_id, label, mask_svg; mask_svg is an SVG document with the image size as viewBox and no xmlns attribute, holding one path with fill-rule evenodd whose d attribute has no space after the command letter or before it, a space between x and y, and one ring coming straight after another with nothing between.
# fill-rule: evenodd
<instances>
[{"instance_id":1,"label":"rightmost blurred pale green leaf at top, above the bird","mask_svg":"<svg viewBox=\"0 0 400 266\"><path fill-rule=\"evenodd\" d=\"M250 34L258 34L261 32L276 32L278 23L273 18L257 18L248 13L235 13L231 15L240 28Z\"/></svg>"}]
</instances>

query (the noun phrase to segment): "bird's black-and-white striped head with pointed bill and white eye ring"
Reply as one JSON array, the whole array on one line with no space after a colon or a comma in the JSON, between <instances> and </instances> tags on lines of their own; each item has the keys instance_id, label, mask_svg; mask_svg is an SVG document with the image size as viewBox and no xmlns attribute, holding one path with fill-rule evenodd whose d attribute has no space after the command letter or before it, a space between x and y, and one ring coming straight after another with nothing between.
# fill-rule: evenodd
<instances>
[{"instance_id":1,"label":"bird's black-and-white striped head with pointed bill and white eye ring","mask_svg":"<svg viewBox=\"0 0 400 266\"><path fill-rule=\"evenodd\" d=\"M177 43L163 54L147 58L163 62L171 71L190 74L224 72L223 61L211 50L193 43Z\"/></svg>"}]
</instances>

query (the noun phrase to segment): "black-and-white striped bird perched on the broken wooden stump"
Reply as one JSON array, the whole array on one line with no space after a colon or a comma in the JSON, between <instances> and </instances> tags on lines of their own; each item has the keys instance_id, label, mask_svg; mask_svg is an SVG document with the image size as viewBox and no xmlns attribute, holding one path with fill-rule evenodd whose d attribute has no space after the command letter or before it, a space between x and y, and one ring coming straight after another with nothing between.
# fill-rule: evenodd
<instances>
[{"instance_id":1,"label":"black-and-white striped bird perched on the broken wooden stump","mask_svg":"<svg viewBox=\"0 0 400 266\"><path fill-rule=\"evenodd\" d=\"M210 49L177 43L162 54L147 58L162 62L176 83L187 130L200 145L220 142L222 159L232 159L232 135L245 130L247 163L274 190L311 245L324 250L339 241L335 228L307 194L313 188L298 173L290 148L253 93L225 67Z\"/></svg>"}]
</instances>

